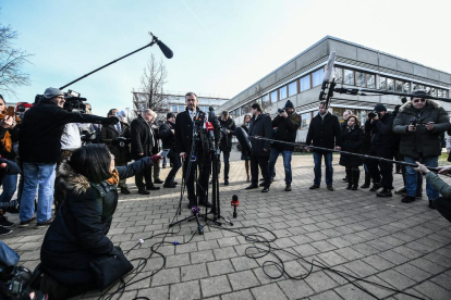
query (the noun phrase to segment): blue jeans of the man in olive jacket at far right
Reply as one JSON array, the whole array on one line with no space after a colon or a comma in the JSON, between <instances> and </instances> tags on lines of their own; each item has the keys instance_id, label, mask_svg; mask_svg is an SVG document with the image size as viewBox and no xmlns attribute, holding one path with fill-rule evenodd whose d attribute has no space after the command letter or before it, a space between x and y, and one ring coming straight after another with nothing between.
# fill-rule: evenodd
<instances>
[{"instance_id":1,"label":"blue jeans of the man in olive jacket at far right","mask_svg":"<svg viewBox=\"0 0 451 300\"><path fill-rule=\"evenodd\" d=\"M438 157L428 157L428 158L420 158L414 159L411 157L404 157L404 161L407 163L415 164L416 161L425 164L427 166L437 166L438 165ZM416 195L416 171L413 170L412 166L405 166L405 190L407 191L409 196L415 197ZM426 195L429 200L435 200L439 197L438 190L436 190L432 185L426 180Z\"/></svg>"}]
</instances>

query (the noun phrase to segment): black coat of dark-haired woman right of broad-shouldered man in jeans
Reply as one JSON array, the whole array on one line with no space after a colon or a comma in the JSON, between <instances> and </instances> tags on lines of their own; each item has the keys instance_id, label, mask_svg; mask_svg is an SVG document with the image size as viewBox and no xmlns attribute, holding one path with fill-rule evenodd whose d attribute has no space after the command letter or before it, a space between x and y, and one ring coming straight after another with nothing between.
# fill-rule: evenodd
<instances>
[{"instance_id":1,"label":"black coat of dark-haired woman right of broad-shouldered man in jeans","mask_svg":"<svg viewBox=\"0 0 451 300\"><path fill-rule=\"evenodd\" d=\"M341 150L352 153L362 153L362 146L365 141L365 134L357 125L353 129L343 127L341 133L342 146ZM340 165L344 166L359 166L363 164L363 160L358 157L340 154Z\"/></svg>"}]
</instances>

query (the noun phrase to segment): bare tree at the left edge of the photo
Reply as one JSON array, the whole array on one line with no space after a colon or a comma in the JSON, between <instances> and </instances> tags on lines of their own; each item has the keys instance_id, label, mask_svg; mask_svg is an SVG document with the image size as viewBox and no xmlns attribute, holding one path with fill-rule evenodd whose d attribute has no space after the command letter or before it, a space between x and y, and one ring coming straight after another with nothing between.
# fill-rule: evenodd
<instances>
[{"instance_id":1,"label":"bare tree at the left edge of the photo","mask_svg":"<svg viewBox=\"0 0 451 300\"><path fill-rule=\"evenodd\" d=\"M22 71L32 54L13 47L17 32L0 24L0 91L16 96L15 88L28 86L29 75Z\"/></svg>"}]
</instances>

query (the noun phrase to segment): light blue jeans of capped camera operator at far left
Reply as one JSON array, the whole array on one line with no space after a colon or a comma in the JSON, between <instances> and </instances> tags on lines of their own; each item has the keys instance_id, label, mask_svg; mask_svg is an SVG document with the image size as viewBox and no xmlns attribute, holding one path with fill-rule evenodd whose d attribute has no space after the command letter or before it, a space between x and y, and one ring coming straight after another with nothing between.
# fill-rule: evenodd
<instances>
[{"instance_id":1,"label":"light blue jeans of capped camera operator at far left","mask_svg":"<svg viewBox=\"0 0 451 300\"><path fill-rule=\"evenodd\" d=\"M38 187L37 222L42 223L51 218L56 166L56 163L24 163L24 190L19 214L21 221L28 221L35 214L35 196Z\"/></svg>"}]
</instances>

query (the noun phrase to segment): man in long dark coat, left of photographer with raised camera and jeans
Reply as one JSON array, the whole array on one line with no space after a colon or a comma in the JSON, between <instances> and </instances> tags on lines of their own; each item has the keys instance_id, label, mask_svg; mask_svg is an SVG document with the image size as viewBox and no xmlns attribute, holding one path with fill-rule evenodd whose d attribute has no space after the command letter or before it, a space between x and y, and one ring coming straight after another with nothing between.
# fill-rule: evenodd
<instances>
[{"instance_id":1,"label":"man in long dark coat, left of photographer with raised camera and jeans","mask_svg":"<svg viewBox=\"0 0 451 300\"><path fill-rule=\"evenodd\" d=\"M272 138L272 122L271 117L263 113L261 105L254 103L251 107L253 117L251 118L248 136L260 136L264 138ZM264 177L261 192L268 192L271 185L269 176L268 160L270 153L269 140L251 139L251 185L246 189L258 188L258 166Z\"/></svg>"}]
</instances>

